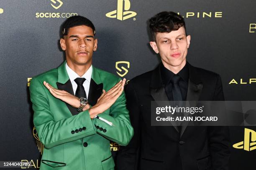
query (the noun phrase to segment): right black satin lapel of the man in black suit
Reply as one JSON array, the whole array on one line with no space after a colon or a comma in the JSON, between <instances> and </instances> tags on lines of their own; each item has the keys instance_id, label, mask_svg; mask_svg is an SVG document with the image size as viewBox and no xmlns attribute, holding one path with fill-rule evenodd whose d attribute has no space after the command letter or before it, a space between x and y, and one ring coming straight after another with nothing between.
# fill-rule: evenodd
<instances>
[{"instance_id":1,"label":"right black satin lapel of the man in black suit","mask_svg":"<svg viewBox=\"0 0 256 170\"><path fill-rule=\"evenodd\" d=\"M187 63L189 66L189 83L187 87L187 98L186 101L198 101L199 97L202 92L203 84L202 81L200 80L200 76L197 72L197 68L193 67L189 63ZM190 107L195 107L190 105ZM187 115L184 116L191 116L190 113L187 113ZM182 131L180 133L180 137L183 135L184 131L187 128L189 121L185 121L182 123Z\"/></svg>"}]
</instances>

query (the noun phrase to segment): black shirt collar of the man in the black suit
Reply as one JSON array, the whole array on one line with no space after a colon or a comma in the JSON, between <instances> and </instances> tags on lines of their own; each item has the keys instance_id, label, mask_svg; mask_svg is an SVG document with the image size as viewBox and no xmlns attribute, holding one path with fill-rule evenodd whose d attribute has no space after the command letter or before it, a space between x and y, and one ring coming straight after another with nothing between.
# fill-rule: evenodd
<instances>
[{"instance_id":1,"label":"black shirt collar of the man in the black suit","mask_svg":"<svg viewBox=\"0 0 256 170\"><path fill-rule=\"evenodd\" d=\"M168 70L166 67L164 67L163 63L161 63L161 77L162 80L164 82L164 85L167 85L170 80L172 79L173 76L175 76L176 74L174 74L172 71ZM179 75L182 80L184 80L185 82L188 83L189 80L189 68L186 62L186 65L182 68L182 70L180 70L177 75Z\"/></svg>"}]
</instances>

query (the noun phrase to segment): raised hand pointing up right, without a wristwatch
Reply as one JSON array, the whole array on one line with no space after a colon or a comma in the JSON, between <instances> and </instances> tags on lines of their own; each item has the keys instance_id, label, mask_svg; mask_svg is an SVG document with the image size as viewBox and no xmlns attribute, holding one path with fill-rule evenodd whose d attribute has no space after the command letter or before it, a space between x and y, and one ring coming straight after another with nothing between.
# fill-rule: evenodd
<instances>
[{"instance_id":1,"label":"raised hand pointing up right, without a wristwatch","mask_svg":"<svg viewBox=\"0 0 256 170\"><path fill-rule=\"evenodd\" d=\"M106 92L105 90L102 91L102 95L98 98L96 105L92 106L89 109L90 117L95 117L96 115L104 112L114 104L114 102L123 92L125 80L125 78L123 80L120 80L118 83L116 83L116 85L108 90L108 92Z\"/></svg>"}]
</instances>

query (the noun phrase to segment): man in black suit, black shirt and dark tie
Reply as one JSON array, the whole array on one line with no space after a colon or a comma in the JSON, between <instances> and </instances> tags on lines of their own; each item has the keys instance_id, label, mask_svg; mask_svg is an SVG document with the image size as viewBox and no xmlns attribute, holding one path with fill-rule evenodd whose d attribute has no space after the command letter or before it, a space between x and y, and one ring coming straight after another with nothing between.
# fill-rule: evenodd
<instances>
[{"instance_id":1,"label":"man in black suit, black shirt and dark tie","mask_svg":"<svg viewBox=\"0 0 256 170\"><path fill-rule=\"evenodd\" d=\"M125 93L134 136L120 148L118 170L228 170L228 127L151 126L151 101L224 100L220 75L186 61L190 35L184 19L162 12L149 20L161 63L133 78Z\"/></svg>"}]
</instances>

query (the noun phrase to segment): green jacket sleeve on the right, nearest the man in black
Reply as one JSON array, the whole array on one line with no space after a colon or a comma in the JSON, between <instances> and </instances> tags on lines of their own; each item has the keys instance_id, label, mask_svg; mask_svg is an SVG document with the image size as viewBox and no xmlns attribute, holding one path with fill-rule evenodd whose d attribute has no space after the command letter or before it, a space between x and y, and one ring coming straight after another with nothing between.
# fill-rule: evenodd
<instances>
[{"instance_id":1,"label":"green jacket sleeve on the right, nearest the man in black","mask_svg":"<svg viewBox=\"0 0 256 170\"><path fill-rule=\"evenodd\" d=\"M122 92L115 103L110 107L109 114L105 111L98 116L112 122L113 125L110 126L106 122L95 118L94 124L97 133L109 140L112 140L113 142L118 143L119 145L128 145L133 137L133 127L131 126L129 112L126 109L124 92Z\"/></svg>"}]
</instances>

